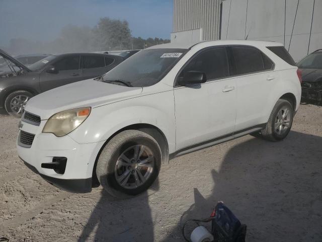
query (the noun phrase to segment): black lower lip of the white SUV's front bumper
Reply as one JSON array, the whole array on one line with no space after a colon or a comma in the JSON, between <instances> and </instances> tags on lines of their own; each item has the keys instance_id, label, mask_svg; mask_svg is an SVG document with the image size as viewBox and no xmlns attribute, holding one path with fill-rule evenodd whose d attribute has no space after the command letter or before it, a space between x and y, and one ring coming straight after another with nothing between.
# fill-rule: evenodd
<instances>
[{"instance_id":1,"label":"black lower lip of the white SUV's front bumper","mask_svg":"<svg viewBox=\"0 0 322 242\"><path fill-rule=\"evenodd\" d=\"M19 157L20 158L20 157ZM21 159L21 158L20 158ZM85 179L60 179L39 173L35 166L21 159L24 164L36 174L39 174L51 185L70 193L90 193L92 191L92 177Z\"/></svg>"}]
</instances>

